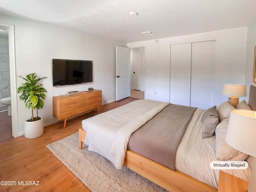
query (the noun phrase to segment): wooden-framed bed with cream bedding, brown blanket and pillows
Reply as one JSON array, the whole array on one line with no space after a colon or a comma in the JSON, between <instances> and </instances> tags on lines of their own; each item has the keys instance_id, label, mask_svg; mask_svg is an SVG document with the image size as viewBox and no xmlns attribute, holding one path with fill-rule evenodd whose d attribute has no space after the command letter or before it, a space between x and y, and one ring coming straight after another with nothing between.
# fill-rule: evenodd
<instances>
[{"instance_id":1,"label":"wooden-framed bed with cream bedding, brown blanket and pillows","mask_svg":"<svg viewBox=\"0 0 256 192\"><path fill-rule=\"evenodd\" d=\"M144 104L142 104L143 102ZM138 154L147 151L145 148L136 149L136 142L138 142L138 140L135 144L130 144L132 140L136 140L134 139L136 135L138 138L142 138L141 133L138 132L144 131L145 133L148 132L148 135L156 136L157 132L161 132L159 128L162 128L162 126L159 126L160 122L159 120L156 121L155 118L158 116L162 124L168 124L165 123L163 117L163 114L167 113L164 110L170 110L170 112L172 112L172 109L168 108L178 107L179 106L165 102L143 100L83 120L83 129L79 130L79 148L82 148L82 142L85 142L85 144L88 144L90 150L96 151L108 158L114 163L116 168L120 168L124 165L168 191L216 192L218 189L219 170L211 169L209 164L217 160L248 161L249 166L245 170L224 170L244 180L248 180L254 158L234 150L230 146L227 146L224 141L230 111L235 109L229 102L224 102L216 109L218 123L214 130L210 130L210 135L208 135L209 132L202 131L202 126L205 124L202 118L209 118L209 116L205 117L209 110L199 108L190 109L191 111L188 112L188 114L192 113L192 115L187 118L187 123L182 124L182 126L185 126L184 131L181 133L181 136L179 136L180 141L178 147L173 149L175 154L174 167L164 164L164 162L158 163L157 159L150 160L151 157L145 157L148 154ZM188 108L184 108L184 106L181 106L181 108L183 108L183 111L188 110ZM248 105L245 101L242 101L236 108L256 110L256 87L250 87ZM184 112L182 111L172 112L171 116L175 116L175 114L181 116L179 113L182 113L182 119L184 116L187 116L183 114ZM210 116L210 120L212 121L212 115ZM168 116L166 119L168 119ZM215 120L216 117L214 121ZM151 126L154 123L158 126L157 131L151 128L154 127ZM169 124L174 123L169 122ZM122 128L121 130L125 131L120 131L120 127ZM108 130L109 128L110 130ZM123 134L123 132L125 132L125 134ZM95 134L97 134L99 141L94 140L93 137L95 137ZM169 134L166 135L169 136ZM172 138L171 140L174 139ZM143 142L146 141L143 140L142 143ZM113 148L114 144L118 146L117 149ZM146 144L146 146L147 145L148 144ZM134 152L136 150L140 152ZM154 153L157 152L153 152L153 154ZM116 156L118 156L117 159ZM159 154L157 156L159 156ZM173 155L170 155L168 158L172 156ZM162 159L162 157L160 159Z\"/></svg>"}]
</instances>

